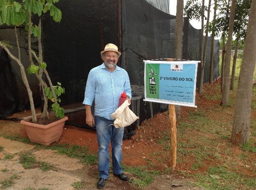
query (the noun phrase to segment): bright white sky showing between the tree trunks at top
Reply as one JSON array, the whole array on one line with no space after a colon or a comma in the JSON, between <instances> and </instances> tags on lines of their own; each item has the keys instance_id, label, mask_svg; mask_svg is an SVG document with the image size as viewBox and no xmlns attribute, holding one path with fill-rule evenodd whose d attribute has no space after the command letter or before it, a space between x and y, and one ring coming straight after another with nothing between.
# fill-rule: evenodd
<instances>
[{"instance_id":1,"label":"bright white sky showing between the tree trunks at top","mask_svg":"<svg viewBox=\"0 0 256 190\"><path fill-rule=\"evenodd\" d=\"M186 5L186 3L187 3L187 1L188 0L184 0L184 7L185 7L185 5ZM205 0L205 6L208 6L208 3L209 3L209 1L208 0ZM213 20L213 6L214 6L214 0L211 0L211 7L210 7L210 20L209 20L209 22L211 22L212 20ZM172 15L176 15L176 5L177 5L177 0L170 0L170 14L172 14ZM207 14L206 12L205 12L205 14ZM196 29L201 29L201 20L200 21L198 21L198 20L190 20L189 21L190 22L190 24L194 27L194 28L196 28ZM206 20L204 21L204 25L205 25L205 23L206 23ZM205 33L204 33L204 35L205 35ZM208 33L208 36L210 36L210 33ZM215 39L219 39L218 37L215 37Z\"/></svg>"}]
</instances>

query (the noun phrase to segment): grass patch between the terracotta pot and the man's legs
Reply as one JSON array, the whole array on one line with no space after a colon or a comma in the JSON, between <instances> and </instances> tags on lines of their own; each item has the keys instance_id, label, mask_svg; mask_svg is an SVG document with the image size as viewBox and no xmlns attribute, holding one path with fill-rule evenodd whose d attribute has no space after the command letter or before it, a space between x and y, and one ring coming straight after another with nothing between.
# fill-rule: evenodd
<instances>
[{"instance_id":1,"label":"grass patch between the terracotta pot and the man's legs","mask_svg":"<svg viewBox=\"0 0 256 190\"><path fill-rule=\"evenodd\" d=\"M79 159L83 164L96 164L97 163L97 156L95 154L88 154L88 148L85 146L78 146L78 145L54 145L45 147L46 149L53 149L57 150L58 154L65 154L71 158Z\"/></svg>"}]
</instances>

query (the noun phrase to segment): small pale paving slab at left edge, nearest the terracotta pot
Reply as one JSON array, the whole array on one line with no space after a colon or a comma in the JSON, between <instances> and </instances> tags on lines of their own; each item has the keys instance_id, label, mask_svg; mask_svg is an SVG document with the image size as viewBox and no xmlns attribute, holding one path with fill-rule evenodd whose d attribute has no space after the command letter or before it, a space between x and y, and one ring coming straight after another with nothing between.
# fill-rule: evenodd
<instances>
[{"instance_id":1,"label":"small pale paving slab at left edge, nearest the terracotta pot","mask_svg":"<svg viewBox=\"0 0 256 190\"><path fill-rule=\"evenodd\" d=\"M4 151L10 154L15 154L21 151L28 151L35 147L31 144L20 143L15 140L5 139L3 137L0 137L0 146L3 146Z\"/></svg>"}]
</instances>

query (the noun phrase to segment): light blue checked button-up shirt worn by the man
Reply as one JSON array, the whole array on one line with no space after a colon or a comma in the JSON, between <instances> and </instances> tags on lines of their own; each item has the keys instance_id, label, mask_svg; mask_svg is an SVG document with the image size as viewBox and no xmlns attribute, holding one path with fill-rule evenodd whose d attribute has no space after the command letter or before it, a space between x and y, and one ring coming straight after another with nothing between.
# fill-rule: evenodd
<instances>
[{"instance_id":1,"label":"light blue checked button-up shirt worn by the man","mask_svg":"<svg viewBox=\"0 0 256 190\"><path fill-rule=\"evenodd\" d=\"M83 104L91 106L95 100L94 115L113 120L110 115L118 108L123 91L131 98L128 73L119 66L110 72L102 63L88 74Z\"/></svg>"}]
</instances>

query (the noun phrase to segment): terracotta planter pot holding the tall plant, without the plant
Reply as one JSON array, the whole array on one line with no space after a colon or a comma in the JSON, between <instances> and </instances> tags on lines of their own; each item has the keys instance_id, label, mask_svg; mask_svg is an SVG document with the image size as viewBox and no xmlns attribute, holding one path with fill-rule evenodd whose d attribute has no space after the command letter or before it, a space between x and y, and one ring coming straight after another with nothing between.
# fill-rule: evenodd
<instances>
[{"instance_id":1,"label":"terracotta planter pot holding the tall plant, without the plant","mask_svg":"<svg viewBox=\"0 0 256 190\"><path fill-rule=\"evenodd\" d=\"M65 121L68 120L68 117L64 116L62 119L48 125L34 124L28 122L29 120L31 120L31 118L20 121L20 123L25 126L29 140L34 143L50 145L60 140L63 126Z\"/></svg>"}]
</instances>

